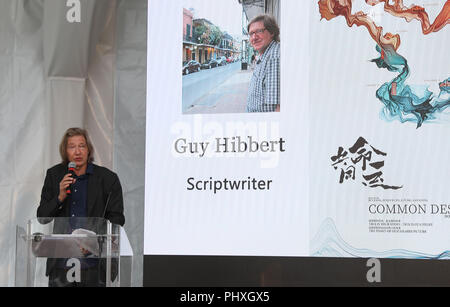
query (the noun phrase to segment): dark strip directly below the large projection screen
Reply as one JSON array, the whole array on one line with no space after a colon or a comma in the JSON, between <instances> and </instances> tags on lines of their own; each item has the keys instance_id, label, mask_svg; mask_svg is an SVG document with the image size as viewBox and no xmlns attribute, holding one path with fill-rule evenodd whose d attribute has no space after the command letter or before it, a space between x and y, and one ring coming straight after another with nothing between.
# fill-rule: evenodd
<instances>
[{"instance_id":1,"label":"dark strip directly below the large projection screen","mask_svg":"<svg viewBox=\"0 0 450 307\"><path fill-rule=\"evenodd\" d=\"M144 286L450 286L448 260L379 260L381 282L369 283L362 258L144 256Z\"/></svg>"}]
</instances>

